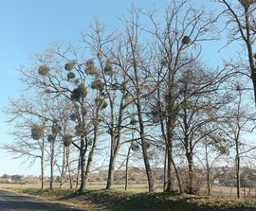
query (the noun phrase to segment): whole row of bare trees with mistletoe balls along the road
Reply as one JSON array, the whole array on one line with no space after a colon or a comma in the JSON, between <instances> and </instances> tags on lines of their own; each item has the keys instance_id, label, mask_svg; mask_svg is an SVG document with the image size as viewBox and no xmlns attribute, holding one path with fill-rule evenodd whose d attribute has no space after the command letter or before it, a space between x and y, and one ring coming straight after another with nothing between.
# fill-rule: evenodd
<instances>
[{"instance_id":1,"label":"whole row of bare trees with mistletoe balls along the road","mask_svg":"<svg viewBox=\"0 0 256 211\"><path fill-rule=\"evenodd\" d=\"M153 153L164 151L164 161L158 161L164 167L164 190L174 191L177 185L180 192L189 193L197 191L195 158L206 161L210 193L209 154L216 161L234 149L239 187L240 156L254 149L241 141L246 129L253 131L255 118L248 109L251 97L244 97L250 87L245 76L255 84L250 34L255 29L254 8L249 3L241 7L239 2L217 2L225 6L219 15L194 8L188 0L174 1L163 19L155 8L145 11L133 5L130 16L120 18L122 29L110 30L95 19L81 32L79 46L55 42L43 54L33 55L32 64L19 69L26 96L10 100L7 109L17 140L4 149L31 164L39 158L43 178L49 162L50 188L54 167L59 167L63 185L76 161L79 191L87 187L101 148L109 148L107 189L113 184L120 149L128 150L127 167L131 151L137 151L149 192L155 185ZM228 15L225 26L231 26L229 43L242 40L241 49L247 49L248 70L242 55L239 62L214 69L200 59L202 44L219 39L223 14ZM70 159L71 154L77 157ZM185 184L180 159L188 167Z\"/></svg>"}]
</instances>

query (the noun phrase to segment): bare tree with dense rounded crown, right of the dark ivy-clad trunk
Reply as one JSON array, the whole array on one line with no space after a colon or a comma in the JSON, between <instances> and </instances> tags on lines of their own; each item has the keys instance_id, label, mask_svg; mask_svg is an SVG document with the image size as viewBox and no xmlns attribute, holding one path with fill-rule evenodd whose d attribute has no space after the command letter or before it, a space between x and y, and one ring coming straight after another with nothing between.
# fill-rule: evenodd
<instances>
[{"instance_id":1,"label":"bare tree with dense rounded crown, right of the dark ivy-clad trunk","mask_svg":"<svg viewBox=\"0 0 256 211\"><path fill-rule=\"evenodd\" d=\"M198 62L191 62L190 66L184 66L177 80L178 96L180 99L177 111L177 128L175 134L185 149L185 155L189 168L189 183L186 191L195 193L193 156L195 149L206 137L221 133L222 124L225 122L223 110L229 103L229 93L220 92L219 86L225 80L226 74L216 74L203 67Z\"/></svg>"}]
</instances>

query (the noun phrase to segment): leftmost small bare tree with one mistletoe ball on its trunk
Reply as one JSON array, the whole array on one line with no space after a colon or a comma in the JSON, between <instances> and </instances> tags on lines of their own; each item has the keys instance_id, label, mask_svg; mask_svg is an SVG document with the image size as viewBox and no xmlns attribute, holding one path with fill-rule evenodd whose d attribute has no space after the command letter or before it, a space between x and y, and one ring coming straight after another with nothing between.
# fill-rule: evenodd
<instances>
[{"instance_id":1,"label":"leftmost small bare tree with one mistletoe ball on its trunk","mask_svg":"<svg viewBox=\"0 0 256 211\"><path fill-rule=\"evenodd\" d=\"M40 97L41 100L44 98ZM6 144L6 149L14 159L23 158L23 163L29 161L29 167L37 159L41 163L41 189L44 189L45 177L45 152L46 152L46 107L44 101L33 103L26 97L19 100L9 100L6 113L9 115L7 122L11 126L10 134L15 137L15 142Z\"/></svg>"}]
</instances>

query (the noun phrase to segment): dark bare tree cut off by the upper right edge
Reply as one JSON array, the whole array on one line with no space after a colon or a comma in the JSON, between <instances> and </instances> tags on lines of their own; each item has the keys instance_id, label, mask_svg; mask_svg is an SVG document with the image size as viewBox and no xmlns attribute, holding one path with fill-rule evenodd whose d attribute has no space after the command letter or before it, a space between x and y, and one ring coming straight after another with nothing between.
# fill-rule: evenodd
<instances>
[{"instance_id":1,"label":"dark bare tree cut off by the upper right edge","mask_svg":"<svg viewBox=\"0 0 256 211\"><path fill-rule=\"evenodd\" d=\"M247 51L247 62L249 65L249 72L247 72L247 64L245 62L236 64L229 63L236 71L247 75L253 84L254 100L256 100L256 67L255 67L255 50L253 50L253 44L255 42L255 17L254 12L256 9L255 1L250 0L216 0L216 2L224 6L222 13L228 16L226 19L227 24L225 28L229 29L229 41L228 44L234 42L241 42L242 51ZM240 51L240 52L242 52ZM241 57L241 54L238 55ZM237 58L238 58L237 57ZM244 59L244 58L242 58Z\"/></svg>"}]
</instances>

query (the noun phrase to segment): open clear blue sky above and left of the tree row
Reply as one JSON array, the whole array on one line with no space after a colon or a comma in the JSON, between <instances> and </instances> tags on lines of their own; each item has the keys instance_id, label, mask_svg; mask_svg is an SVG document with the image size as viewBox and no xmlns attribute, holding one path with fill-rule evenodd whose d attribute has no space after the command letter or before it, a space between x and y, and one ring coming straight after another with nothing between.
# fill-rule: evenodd
<instances>
[{"instance_id":1,"label":"open clear blue sky above and left of the tree row","mask_svg":"<svg viewBox=\"0 0 256 211\"><path fill-rule=\"evenodd\" d=\"M172 0L134 0L136 6L148 8L151 3L163 9ZM194 1L206 3L205 0ZM119 25L118 17L130 8L130 0L0 0L0 109L8 99L18 98L22 84L16 68L28 65L29 54L42 53L54 40L77 41L79 30L89 25L93 15L109 26ZM6 116L0 113L0 145L10 143ZM0 176L8 174L39 175L39 166L19 167L0 150Z\"/></svg>"}]
</instances>

